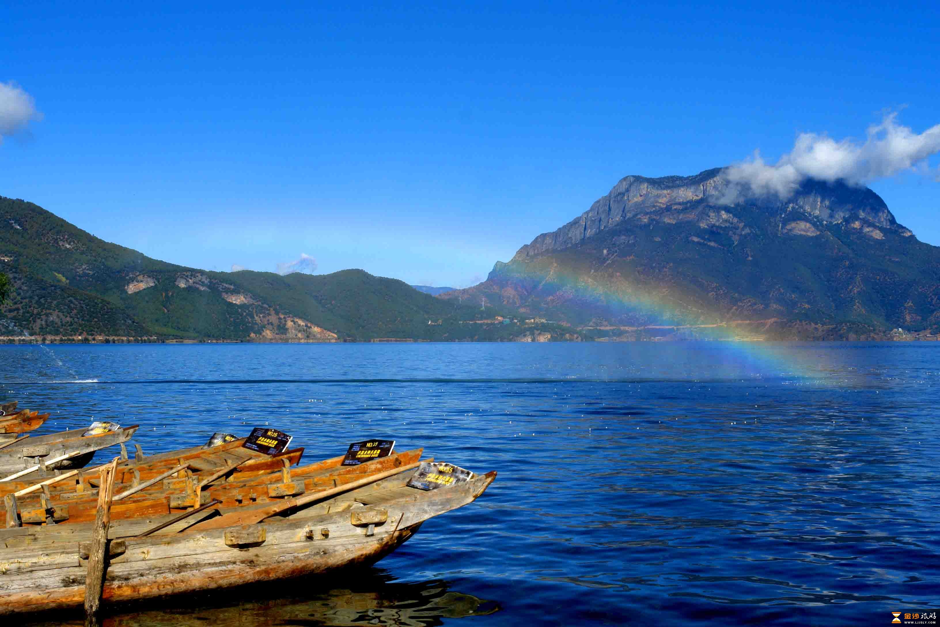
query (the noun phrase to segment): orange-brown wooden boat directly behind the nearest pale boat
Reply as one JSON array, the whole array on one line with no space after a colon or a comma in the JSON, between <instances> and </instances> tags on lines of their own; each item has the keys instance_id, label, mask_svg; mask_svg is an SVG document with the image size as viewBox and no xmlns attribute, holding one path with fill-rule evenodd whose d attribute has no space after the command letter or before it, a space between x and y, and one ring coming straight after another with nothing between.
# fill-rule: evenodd
<instances>
[{"instance_id":1,"label":"orange-brown wooden boat directly behind the nearest pale boat","mask_svg":"<svg viewBox=\"0 0 940 627\"><path fill-rule=\"evenodd\" d=\"M246 453L253 452L243 450ZM111 508L111 520L179 513L197 507L197 502L205 504L211 499L221 501L222 508L276 502L297 494L335 488L364 476L417 462L421 451L422 449L417 448L395 453L356 466L341 466L339 462L343 457L338 457L299 468L290 468L290 462L299 459L299 455L292 454L294 451L285 451L281 456L269 458L267 461L245 462L236 469L245 469L245 472L232 472L228 477L220 477L218 483L202 487L198 491L198 497L196 485L200 480L199 475L165 478L160 483L116 501ZM288 462L287 465L284 462ZM269 467L257 470L263 465ZM276 471L272 472L275 469ZM114 494L121 494L133 487L133 483L116 484ZM44 525L49 518L59 525L87 523L95 519L98 492L79 483L74 492L44 494L37 491L20 496L16 500L16 506L21 525ZM6 503L3 503L0 505L0 520L6 520L6 514Z\"/></svg>"}]
</instances>

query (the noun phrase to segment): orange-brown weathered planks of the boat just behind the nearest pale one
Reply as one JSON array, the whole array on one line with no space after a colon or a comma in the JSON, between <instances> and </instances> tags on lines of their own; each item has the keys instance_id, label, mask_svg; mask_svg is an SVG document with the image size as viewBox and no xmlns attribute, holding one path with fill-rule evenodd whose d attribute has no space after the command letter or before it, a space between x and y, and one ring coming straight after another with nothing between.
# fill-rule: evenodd
<instances>
[{"instance_id":1,"label":"orange-brown weathered planks of the boat just behind the nearest pale one","mask_svg":"<svg viewBox=\"0 0 940 627\"><path fill-rule=\"evenodd\" d=\"M231 509L243 505L277 502L281 500L278 498L279 496L290 496L292 494L279 494L277 490L272 490L272 488L276 489L284 485L282 480L285 475L289 475L292 478L291 483L302 489L299 494L317 492L343 486L367 475L375 475L416 462L420 459L421 451L420 448L403 451L380 460L364 462L358 466L339 466L337 464L333 468L323 469L323 462L316 462L300 468L284 468L282 465L281 470L265 471L267 474L249 472L245 473L247 477L244 478L239 473L234 473L226 482L206 485L200 490L196 490L196 482L200 481L197 475L192 478L165 478L162 485L158 485L158 482L150 483L149 486L147 483L141 483L136 487L133 487L133 484L118 484L115 487L116 493L130 494L127 496L118 494L114 497L112 519L125 520L141 516L158 516L169 514L174 509L192 508L196 505L196 492L200 493L200 502L215 498L222 501L223 508ZM341 460L341 458L334 459ZM291 458L283 458L283 460L283 462L280 462L281 464L284 462L290 463ZM326 460L325 462L332 462L332 460ZM250 463L252 462L244 463L243 467L249 467ZM308 472L309 468L315 470ZM184 467L177 466L164 472L171 473L180 470L184 470ZM312 477L304 479L304 477L310 475ZM150 479L150 481L154 481L154 479ZM206 479L201 479L201 481L204 482ZM221 481L221 478L219 478L219 481ZM68 481L63 480L63 482ZM51 485L50 488L55 488L56 485ZM134 490L138 492L133 492ZM97 510L96 490L83 489L81 492L53 492L50 490L47 500L45 507L52 507L56 511L68 508L68 518L62 518L60 520L62 524L87 523L94 519ZM20 499L19 507L21 511L39 509L40 496L33 494ZM3 506L2 509L5 510L6 507ZM44 522L44 519L24 519L25 524L39 524L42 522Z\"/></svg>"}]
</instances>

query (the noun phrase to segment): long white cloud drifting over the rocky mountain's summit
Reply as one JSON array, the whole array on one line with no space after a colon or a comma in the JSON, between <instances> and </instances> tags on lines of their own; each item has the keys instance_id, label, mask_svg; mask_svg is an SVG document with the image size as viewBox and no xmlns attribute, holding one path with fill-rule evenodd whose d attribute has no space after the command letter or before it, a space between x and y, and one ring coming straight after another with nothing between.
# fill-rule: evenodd
<instances>
[{"instance_id":1,"label":"long white cloud drifting over the rocky mountain's summit","mask_svg":"<svg viewBox=\"0 0 940 627\"><path fill-rule=\"evenodd\" d=\"M836 141L817 133L800 133L793 149L769 165L755 152L749 160L731 165L723 176L731 185L726 199L741 193L787 198L807 179L861 185L904 170L929 172L925 160L940 152L940 124L914 133L892 113L871 125L865 143L851 138Z\"/></svg>"}]
</instances>

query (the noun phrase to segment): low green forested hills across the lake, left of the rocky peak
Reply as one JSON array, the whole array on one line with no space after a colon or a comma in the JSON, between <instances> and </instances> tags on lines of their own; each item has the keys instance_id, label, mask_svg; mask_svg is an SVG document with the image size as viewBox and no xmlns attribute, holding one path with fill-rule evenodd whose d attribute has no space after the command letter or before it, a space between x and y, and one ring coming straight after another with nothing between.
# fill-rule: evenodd
<instances>
[{"instance_id":1,"label":"low green forested hills across the lake, left of the rocky peak","mask_svg":"<svg viewBox=\"0 0 940 627\"><path fill-rule=\"evenodd\" d=\"M461 323L493 316L492 308L443 301L399 280L361 270L281 276L187 268L2 196L0 271L14 287L4 323L34 336L337 341L508 333ZM12 327L0 335L14 335Z\"/></svg>"}]
</instances>

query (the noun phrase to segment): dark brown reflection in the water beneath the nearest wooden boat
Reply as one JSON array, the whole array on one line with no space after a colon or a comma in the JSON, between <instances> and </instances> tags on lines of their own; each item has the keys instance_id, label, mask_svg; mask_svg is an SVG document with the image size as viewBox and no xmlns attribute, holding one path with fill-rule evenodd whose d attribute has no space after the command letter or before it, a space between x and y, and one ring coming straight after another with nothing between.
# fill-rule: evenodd
<instances>
[{"instance_id":1,"label":"dark brown reflection in the water beneath the nearest wooden boat","mask_svg":"<svg viewBox=\"0 0 940 627\"><path fill-rule=\"evenodd\" d=\"M485 616L499 611L494 601L484 601L469 594L450 590L440 579L420 583L394 583L389 572L381 568L357 569L336 573L329 580L307 578L292 582L287 588L265 586L240 590L237 603L231 591L189 597L185 604L166 609L165 605L180 603L180 598L164 601L163 607L137 604L133 613L110 614L102 617L102 627L288 627L313 625L400 625L431 627L444 624L444 619ZM323 584L331 589L315 591ZM118 607L114 608L118 610ZM128 608L130 609L130 608ZM118 610L119 611L119 610ZM84 625L82 621L55 620L32 623L33 627L52 625Z\"/></svg>"}]
</instances>

